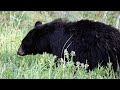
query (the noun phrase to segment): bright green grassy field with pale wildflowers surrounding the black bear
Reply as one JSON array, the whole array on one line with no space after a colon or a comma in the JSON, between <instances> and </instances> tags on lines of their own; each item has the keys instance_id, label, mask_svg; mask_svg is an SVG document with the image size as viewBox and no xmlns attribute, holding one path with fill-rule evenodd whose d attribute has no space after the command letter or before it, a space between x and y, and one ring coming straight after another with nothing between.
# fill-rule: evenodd
<instances>
[{"instance_id":1,"label":"bright green grassy field with pale wildflowers surrounding the black bear","mask_svg":"<svg viewBox=\"0 0 120 90\"><path fill-rule=\"evenodd\" d=\"M18 56L21 40L38 20L43 23L56 18L70 21L91 19L119 28L120 12L113 11L0 11L0 79L117 79L111 63L108 68L99 66L87 72L86 65L75 67L72 60L57 68L56 56L44 53L35 56ZM76 71L77 68L77 71ZM75 73L76 72L76 73Z\"/></svg>"}]
</instances>

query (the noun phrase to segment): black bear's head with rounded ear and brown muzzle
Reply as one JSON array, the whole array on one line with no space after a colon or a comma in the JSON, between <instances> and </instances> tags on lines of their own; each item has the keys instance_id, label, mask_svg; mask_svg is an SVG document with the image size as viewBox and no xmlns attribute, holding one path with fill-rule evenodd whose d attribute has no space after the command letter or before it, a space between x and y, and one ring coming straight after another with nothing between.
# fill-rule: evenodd
<instances>
[{"instance_id":1,"label":"black bear's head with rounded ear and brown muzzle","mask_svg":"<svg viewBox=\"0 0 120 90\"><path fill-rule=\"evenodd\" d=\"M20 56L29 54L42 54L43 52L50 53L50 45L47 34L47 24L42 24L37 21L34 28L28 32L18 49L17 54Z\"/></svg>"}]
</instances>

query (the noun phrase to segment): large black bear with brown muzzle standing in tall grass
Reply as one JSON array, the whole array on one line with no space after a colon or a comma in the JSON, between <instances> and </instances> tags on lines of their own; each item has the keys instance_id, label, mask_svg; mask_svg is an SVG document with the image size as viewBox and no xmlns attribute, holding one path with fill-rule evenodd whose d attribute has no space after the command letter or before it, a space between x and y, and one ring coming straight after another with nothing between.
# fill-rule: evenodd
<instances>
[{"instance_id":1,"label":"large black bear with brown muzzle standing in tall grass","mask_svg":"<svg viewBox=\"0 0 120 90\"><path fill-rule=\"evenodd\" d=\"M23 39L18 54L52 53L63 57L63 50L75 51L74 62L89 64L92 70L110 61L116 70L120 64L120 32L116 28L92 20L70 22L55 19L46 24L40 21Z\"/></svg>"}]
</instances>

